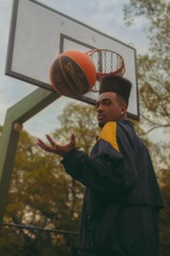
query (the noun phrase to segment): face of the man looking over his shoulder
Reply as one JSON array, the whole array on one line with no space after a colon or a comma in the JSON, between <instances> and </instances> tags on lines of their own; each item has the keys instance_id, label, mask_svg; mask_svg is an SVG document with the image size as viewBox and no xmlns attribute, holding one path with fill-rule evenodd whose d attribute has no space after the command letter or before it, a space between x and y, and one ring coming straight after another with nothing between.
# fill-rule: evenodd
<instances>
[{"instance_id":1,"label":"face of the man looking over his shoulder","mask_svg":"<svg viewBox=\"0 0 170 256\"><path fill-rule=\"evenodd\" d=\"M122 111L126 111L120 97L113 92L100 94L96 106L99 127L104 127L108 121L118 121L122 118Z\"/></svg>"}]
</instances>

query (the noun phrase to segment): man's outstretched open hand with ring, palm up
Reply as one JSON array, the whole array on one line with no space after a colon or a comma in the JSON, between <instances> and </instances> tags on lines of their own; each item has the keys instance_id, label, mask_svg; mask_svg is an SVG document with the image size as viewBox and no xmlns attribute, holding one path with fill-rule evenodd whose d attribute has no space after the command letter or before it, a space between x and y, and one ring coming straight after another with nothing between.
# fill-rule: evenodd
<instances>
[{"instance_id":1,"label":"man's outstretched open hand with ring, palm up","mask_svg":"<svg viewBox=\"0 0 170 256\"><path fill-rule=\"evenodd\" d=\"M73 148L75 148L75 144L76 144L76 136L74 135L74 133L71 135L71 140L68 144L66 145L58 145L55 143L55 141L50 137L50 135L45 135L48 139L48 141L50 142L50 144L46 144L45 142L43 142L40 139L37 139L37 145L40 146L40 148L42 148L42 150L51 152L51 153L55 153L57 155L61 155L64 156L66 155L66 153L68 153L70 150L72 150Z\"/></svg>"}]
</instances>

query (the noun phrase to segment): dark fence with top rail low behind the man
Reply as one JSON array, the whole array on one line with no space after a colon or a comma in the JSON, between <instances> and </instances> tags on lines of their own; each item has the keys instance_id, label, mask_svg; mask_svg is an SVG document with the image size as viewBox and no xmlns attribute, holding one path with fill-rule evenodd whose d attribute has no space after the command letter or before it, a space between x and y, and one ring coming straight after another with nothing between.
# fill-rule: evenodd
<instances>
[{"instance_id":1,"label":"dark fence with top rail low behind the man","mask_svg":"<svg viewBox=\"0 0 170 256\"><path fill-rule=\"evenodd\" d=\"M0 256L78 256L78 246L78 232L13 223L0 231ZM160 244L159 256L170 256L170 244Z\"/></svg>"}]
</instances>

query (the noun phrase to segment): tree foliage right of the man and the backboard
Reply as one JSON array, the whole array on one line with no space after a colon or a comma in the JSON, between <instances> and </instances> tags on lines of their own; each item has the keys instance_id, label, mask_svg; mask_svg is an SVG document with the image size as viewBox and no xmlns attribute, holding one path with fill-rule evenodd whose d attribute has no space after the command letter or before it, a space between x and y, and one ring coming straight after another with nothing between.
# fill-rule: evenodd
<instances>
[{"instance_id":1,"label":"tree foliage right of the man and the backboard","mask_svg":"<svg viewBox=\"0 0 170 256\"><path fill-rule=\"evenodd\" d=\"M143 16L148 21L146 34L150 41L148 54L138 56L141 121L138 132L145 137L156 128L170 129L170 2L167 0L130 0L125 5L125 22L133 25ZM170 153L169 142L150 143L150 152L156 168L164 209L160 216L160 255L170 255Z\"/></svg>"}]
</instances>

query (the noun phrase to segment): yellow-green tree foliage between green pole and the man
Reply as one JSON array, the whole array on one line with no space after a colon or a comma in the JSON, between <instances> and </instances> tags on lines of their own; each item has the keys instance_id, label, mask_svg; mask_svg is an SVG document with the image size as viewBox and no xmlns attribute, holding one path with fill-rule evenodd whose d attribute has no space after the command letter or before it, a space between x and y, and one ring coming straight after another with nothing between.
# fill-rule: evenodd
<instances>
[{"instance_id":1,"label":"yellow-green tree foliage between green pole and the man","mask_svg":"<svg viewBox=\"0 0 170 256\"><path fill-rule=\"evenodd\" d=\"M89 153L99 131L94 116L92 106L74 103L66 106L59 116L61 127L55 130L53 137L58 142L67 142L73 129L77 147ZM21 132L4 221L79 231L84 187L65 173L60 161L59 156L37 147L35 137ZM6 247L13 246L17 247L16 256L30 253L36 256L77 255L76 236L59 237L22 229L12 231L12 237L8 230L3 232L1 255L5 255Z\"/></svg>"}]
</instances>

